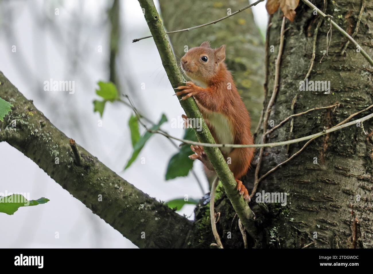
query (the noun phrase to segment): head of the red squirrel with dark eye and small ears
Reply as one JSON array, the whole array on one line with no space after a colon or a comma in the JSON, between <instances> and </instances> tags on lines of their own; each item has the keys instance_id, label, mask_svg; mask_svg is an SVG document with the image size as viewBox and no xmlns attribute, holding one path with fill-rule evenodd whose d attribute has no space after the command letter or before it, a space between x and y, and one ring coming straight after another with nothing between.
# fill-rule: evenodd
<instances>
[{"instance_id":1,"label":"head of the red squirrel with dark eye and small ears","mask_svg":"<svg viewBox=\"0 0 373 274\"><path fill-rule=\"evenodd\" d=\"M189 49L181 57L181 68L189 78L208 82L219 70L225 59L225 45L211 48L210 42L203 42L199 47Z\"/></svg>"}]
</instances>

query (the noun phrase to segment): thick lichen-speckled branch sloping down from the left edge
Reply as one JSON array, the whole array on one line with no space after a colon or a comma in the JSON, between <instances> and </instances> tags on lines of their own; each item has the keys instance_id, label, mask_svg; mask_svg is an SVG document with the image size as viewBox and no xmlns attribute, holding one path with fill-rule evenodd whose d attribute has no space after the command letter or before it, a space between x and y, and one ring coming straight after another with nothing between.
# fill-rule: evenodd
<instances>
[{"instance_id":1,"label":"thick lichen-speckled branch sloping down from the left edge","mask_svg":"<svg viewBox=\"0 0 373 274\"><path fill-rule=\"evenodd\" d=\"M69 138L2 72L0 97L14 105L9 116L0 122L0 142L6 141L29 157L138 247L186 247L193 227L191 221L135 188L74 142L81 156L81 165L76 165Z\"/></svg>"}]
</instances>

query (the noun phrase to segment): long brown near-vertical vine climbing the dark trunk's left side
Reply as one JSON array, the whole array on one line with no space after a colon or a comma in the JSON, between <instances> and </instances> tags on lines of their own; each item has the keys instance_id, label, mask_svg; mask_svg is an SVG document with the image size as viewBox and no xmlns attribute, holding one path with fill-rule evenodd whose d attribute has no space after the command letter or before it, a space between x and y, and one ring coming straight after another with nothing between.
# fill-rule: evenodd
<instances>
[{"instance_id":1,"label":"long brown near-vertical vine climbing the dark trunk's left side","mask_svg":"<svg viewBox=\"0 0 373 274\"><path fill-rule=\"evenodd\" d=\"M268 124L268 118L269 114L272 110L273 103L275 103L275 98L277 95L278 91L278 86L279 86L279 78L280 78L280 62L281 62L281 56L282 56L282 48L283 48L283 41L285 37L285 22L286 22L286 17L282 18L282 24L281 24L281 31L280 31L280 45L279 45L279 52L277 54L277 59L276 59L276 66L275 66L275 82L273 83L273 91L272 91L272 96L268 102L267 109L264 112L264 118L263 118L263 136L262 136L262 144L266 142L266 131L267 131L267 124ZM252 193L250 195L250 198L253 196L253 193L256 192L256 189L258 187L258 174L261 166L261 161L263 159L263 151L264 147L260 148L259 155L258 155L258 162L257 166L255 169L255 174L254 174L254 187L252 190Z\"/></svg>"}]
</instances>

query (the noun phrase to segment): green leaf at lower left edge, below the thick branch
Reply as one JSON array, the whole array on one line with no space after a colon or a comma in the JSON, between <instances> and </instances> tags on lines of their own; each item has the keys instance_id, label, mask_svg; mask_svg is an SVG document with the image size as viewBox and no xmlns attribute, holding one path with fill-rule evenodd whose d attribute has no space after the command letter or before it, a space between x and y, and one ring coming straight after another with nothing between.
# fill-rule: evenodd
<instances>
[{"instance_id":1,"label":"green leaf at lower left edge, below the thick branch","mask_svg":"<svg viewBox=\"0 0 373 274\"><path fill-rule=\"evenodd\" d=\"M49 200L47 198L40 198L37 200L28 201L21 194L12 194L6 197L0 196L0 212L13 215L20 207L28 207L32 205L45 204Z\"/></svg>"}]
</instances>

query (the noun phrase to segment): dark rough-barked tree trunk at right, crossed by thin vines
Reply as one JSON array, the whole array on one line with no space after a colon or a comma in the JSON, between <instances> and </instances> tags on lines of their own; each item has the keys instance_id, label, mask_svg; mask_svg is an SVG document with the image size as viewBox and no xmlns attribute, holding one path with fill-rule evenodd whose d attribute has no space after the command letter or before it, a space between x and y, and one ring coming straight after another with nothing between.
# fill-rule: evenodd
<instances>
[{"instance_id":1,"label":"dark rough-barked tree trunk at right, crossed by thin vines","mask_svg":"<svg viewBox=\"0 0 373 274\"><path fill-rule=\"evenodd\" d=\"M320 9L323 1L313 1ZM327 1L326 14L333 16L349 34L354 31L362 1ZM366 8L355 39L373 54L371 18L373 5L366 1ZM309 76L311 81L330 81L330 94L323 91L299 91L299 82L308 71L312 53L313 31L319 17L302 2L296 9L293 23L287 21L285 45L280 66L279 93L269 120L277 125L291 113L292 99L298 94L294 113L307 109L332 105L333 111L320 110L296 117L291 139L332 127L350 114L372 104L372 67L351 46L341 56L347 39L335 29L329 56L319 61L326 50L326 33L329 23L323 21L316 42L316 59ZM270 28L269 45L275 45L275 53L269 55L269 91L273 88L275 58L279 45L282 13L276 12ZM269 100L266 98L266 103ZM371 110L369 110L371 112ZM360 116L369 114L361 113ZM366 133L371 133L370 120L364 123ZM267 142L289 138L289 123L273 132ZM267 148L264 151L261 175L289 155L297 152L304 142L286 147ZM258 192L288 193L285 207L269 204L269 223L265 246L276 248L301 248L316 240L309 248L372 248L372 139L361 133L359 127L349 127L330 133L311 142L291 162L276 170L260 184ZM317 157L317 164L314 163ZM317 233L317 238L314 235Z\"/></svg>"}]
</instances>

